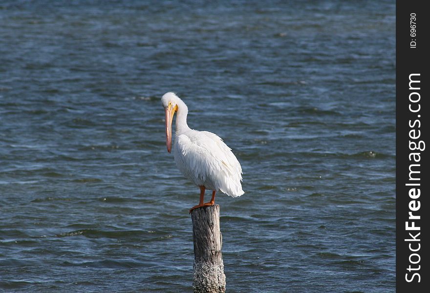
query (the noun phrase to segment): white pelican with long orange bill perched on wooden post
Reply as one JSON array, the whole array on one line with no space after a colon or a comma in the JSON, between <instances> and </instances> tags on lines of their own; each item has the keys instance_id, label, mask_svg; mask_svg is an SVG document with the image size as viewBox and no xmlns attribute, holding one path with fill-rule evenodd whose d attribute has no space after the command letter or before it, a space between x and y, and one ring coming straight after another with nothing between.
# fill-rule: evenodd
<instances>
[{"instance_id":1,"label":"white pelican with long orange bill perched on wooden post","mask_svg":"<svg viewBox=\"0 0 430 293\"><path fill-rule=\"evenodd\" d=\"M172 121L176 112L174 160L182 174L200 188L199 204L190 213L199 207L213 206L218 190L232 197L245 193L240 183L242 167L231 148L212 132L188 127L188 107L175 93L164 94L161 104L166 112L167 151L172 150ZM206 189L212 190L212 199L203 203Z\"/></svg>"}]
</instances>

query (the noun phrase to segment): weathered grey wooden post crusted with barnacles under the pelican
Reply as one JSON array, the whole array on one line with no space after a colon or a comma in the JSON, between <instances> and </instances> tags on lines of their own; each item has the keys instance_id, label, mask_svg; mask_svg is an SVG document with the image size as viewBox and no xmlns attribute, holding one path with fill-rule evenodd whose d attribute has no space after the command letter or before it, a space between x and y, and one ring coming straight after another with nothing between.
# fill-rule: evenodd
<instances>
[{"instance_id":1,"label":"weathered grey wooden post crusted with barnacles under the pelican","mask_svg":"<svg viewBox=\"0 0 430 293\"><path fill-rule=\"evenodd\" d=\"M219 205L193 209L194 293L224 293Z\"/></svg>"}]
</instances>

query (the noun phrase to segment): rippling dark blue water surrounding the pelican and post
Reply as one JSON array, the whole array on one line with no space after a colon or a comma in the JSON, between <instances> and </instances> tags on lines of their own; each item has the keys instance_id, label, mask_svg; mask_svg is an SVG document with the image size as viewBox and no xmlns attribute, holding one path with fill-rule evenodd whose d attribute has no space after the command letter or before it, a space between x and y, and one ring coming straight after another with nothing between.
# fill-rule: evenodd
<instances>
[{"instance_id":1,"label":"rippling dark blue water surrounding the pelican and post","mask_svg":"<svg viewBox=\"0 0 430 293\"><path fill-rule=\"evenodd\" d=\"M228 292L395 291L394 1L0 2L0 292L192 292L161 96L243 167Z\"/></svg>"}]
</instances>

